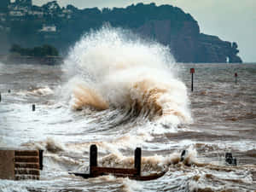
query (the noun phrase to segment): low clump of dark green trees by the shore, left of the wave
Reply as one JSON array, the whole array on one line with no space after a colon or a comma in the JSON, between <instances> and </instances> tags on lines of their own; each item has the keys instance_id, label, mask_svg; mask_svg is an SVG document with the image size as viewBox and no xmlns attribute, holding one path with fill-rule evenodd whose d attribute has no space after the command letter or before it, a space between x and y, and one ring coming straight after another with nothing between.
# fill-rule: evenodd
<instances>
[{"instance_id":1,"label":"low clump of dark green trees by the shore, left of the wave","mask_svg":"<svg viewBox=\"0 0 256 192\"><path fill-rule=\"evenodd\" d=\"M35 57L44 57L44 56L58 56L59 52L55 47L50 46L49 44L44 44L41 47L34 48L21 48L18 44L13 44L11 49L9 49L11 53L18 53L20 55L26 56L35 56Z\"/></svg>"}]
</instances>

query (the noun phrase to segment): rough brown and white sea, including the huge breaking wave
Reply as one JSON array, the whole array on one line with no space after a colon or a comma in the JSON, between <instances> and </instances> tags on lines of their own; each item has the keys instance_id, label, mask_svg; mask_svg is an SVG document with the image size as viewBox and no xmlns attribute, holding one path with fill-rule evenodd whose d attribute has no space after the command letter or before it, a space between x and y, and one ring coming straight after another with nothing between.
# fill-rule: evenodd
<instances>
[{"instance_id":1,"label":"rough brown and white sea, including the huge breaking wave","mask_svg":"<svg viewBox=\"0 0 256 192\"><path fill-rule=\"evenodd\" d=\"M0 180L0 191L256 190L256 64L176 63L168 48L128 37L91 32L60 66L0 63L0 148L44 149L40 180ZM91 144L100 166L133 167L140 147L142 174L166 174L69 174L89 172Z\"/></svg>"}]
</instances>

